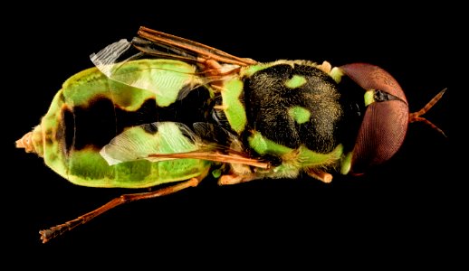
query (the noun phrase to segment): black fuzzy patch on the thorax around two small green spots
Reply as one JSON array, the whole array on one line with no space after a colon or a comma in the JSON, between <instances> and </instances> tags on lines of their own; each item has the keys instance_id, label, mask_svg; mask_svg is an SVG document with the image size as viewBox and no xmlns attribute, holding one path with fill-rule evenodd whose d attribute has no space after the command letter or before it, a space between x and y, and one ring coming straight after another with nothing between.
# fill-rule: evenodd
<instances>
[{"instance_id":1,"label":"black fuzzy patch on the thorax around two small green spots","mask_svg":"<svg viewBox=\"0 0 469 271\"><path fill-rule=\"evenodd\" d=\"M285 82L294 75L305 83L289 88ZM329 153L338 142L343 117L336 82L323 71L307 65L279 64L255 72L245 80L244 103L250 128L274 142ZM292 107L311 112L309 121L298 124L289 116Z\"/></svg>"}]
</instances>

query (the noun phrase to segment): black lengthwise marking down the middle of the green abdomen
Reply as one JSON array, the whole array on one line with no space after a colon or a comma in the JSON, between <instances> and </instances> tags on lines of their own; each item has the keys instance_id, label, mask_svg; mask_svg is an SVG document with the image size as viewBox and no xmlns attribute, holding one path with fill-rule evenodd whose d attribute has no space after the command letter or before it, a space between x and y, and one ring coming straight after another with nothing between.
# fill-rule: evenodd
<instances>
[{"instance_id":1,"label":"black lengthwise marking down the middle of the green abdomen","mask_svg":"<svg viewBox=\"0 0 469 271\"><path fill-rule=\"evenodd\" d=\"M65 127L66 153L85 147L101 149L126 127L160 121L180 122L189 127L195 122L206 122L210 97L208 90L192 90L186 98L168 107L158 107L154 98L147 99L136 111L128 111L110 98L97 97L86 107L63 107L62 126ZM148 131L155 133L157 131Z\"/></svg>"}]
</instances>

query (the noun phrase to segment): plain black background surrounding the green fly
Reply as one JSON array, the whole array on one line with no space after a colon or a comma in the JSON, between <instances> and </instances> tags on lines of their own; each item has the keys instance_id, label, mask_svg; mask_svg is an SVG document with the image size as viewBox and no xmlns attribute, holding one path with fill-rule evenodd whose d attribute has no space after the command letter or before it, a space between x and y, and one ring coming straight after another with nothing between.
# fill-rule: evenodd
<instances>
[{"instance_id":1,"label":"plain black background surrounding the green fly","mask_svg":"<svg viewBox=\"0 0 469 271\"><path fill-rule=\"evenodd\" d=\"M247 265L246 259L257 265L314 266L324 257L330 264L400 266L407 261L421 266L457 257L448 250L460 242L455 231L463 198L457 186L463 180L450 176L458 169L450 152L455 131L449 122L450 102L462 89L451 88L456 49L449 29L458 18L447 19L451 11L446 7L365 11L290 1L261 8L241 3L128 3L118 10L76 5L28 5L32 14L18 9L13 21L3 23L8 84L2 107L7 151L2 226L12 256L41 256L48 266L63 254L76 265L130 258L136 264L179 266L196 257L191 263L205 266L220 259L224 264L219 267ZM447 137L411 124L397 155L362 177L338 175L330 184L299 178L226 187L207 180L196 189L120 206L41 244L39 229L129 191L75 186L34 154L15 149L14 141L39 123L65 79L91 67L91 52L130 39L140 25L256 61L370 62L397 79L411 111L448 88L426 115Z\"/></svg>"}]
</instances>

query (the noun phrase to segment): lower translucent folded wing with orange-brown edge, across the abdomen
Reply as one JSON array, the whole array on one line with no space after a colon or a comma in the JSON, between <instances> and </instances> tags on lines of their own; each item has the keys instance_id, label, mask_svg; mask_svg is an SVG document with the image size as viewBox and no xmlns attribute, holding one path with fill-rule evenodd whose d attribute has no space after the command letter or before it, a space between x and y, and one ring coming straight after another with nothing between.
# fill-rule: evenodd
<instances>
[{"instance_id":1,"label":"lower translucent folded wing with orange-brown edge, across the abdomen","mask_svg":"<svg viewBox=\"0 0 469 271\"><path fill-rule=\"evenodd\" d=\"M159 162L191 158L247 164L261 168L270 166L260 158L250 157L249 154L244 153L239 149L241 143L237 141L235 135L221 129L210 124L196 123L195 132L184 124L176 122L155 122L133 126L114 137L101 149L100 154L110 165L139 159ZM206 139L212 136L209 133L215 132L225 134L219 138L227 143L226 145L221 145L216 139L211 141ZM205 138L196 133L204 133Z\"/></svg>"}]
</instances>

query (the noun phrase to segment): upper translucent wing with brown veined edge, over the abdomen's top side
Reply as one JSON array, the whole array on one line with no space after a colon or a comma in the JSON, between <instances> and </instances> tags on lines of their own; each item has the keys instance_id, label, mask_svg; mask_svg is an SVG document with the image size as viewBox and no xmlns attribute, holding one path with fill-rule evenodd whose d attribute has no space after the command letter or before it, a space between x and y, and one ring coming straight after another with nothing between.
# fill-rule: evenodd
<instances>
[{"instance_id":1,"label":"upper translucent wing with brown veined edge, over the abdomen's top side","mask_svg":"<svg viewBox=\"0 0 469 271\"><path fill-rule=\"evenodd\" d=\"M192 89L236 76L240 67L256 63L146 27L138 34L132 42L120 40L91 54L91 61L109 79L158 96L184 98Z\"/></svg>"}]
</instances>

